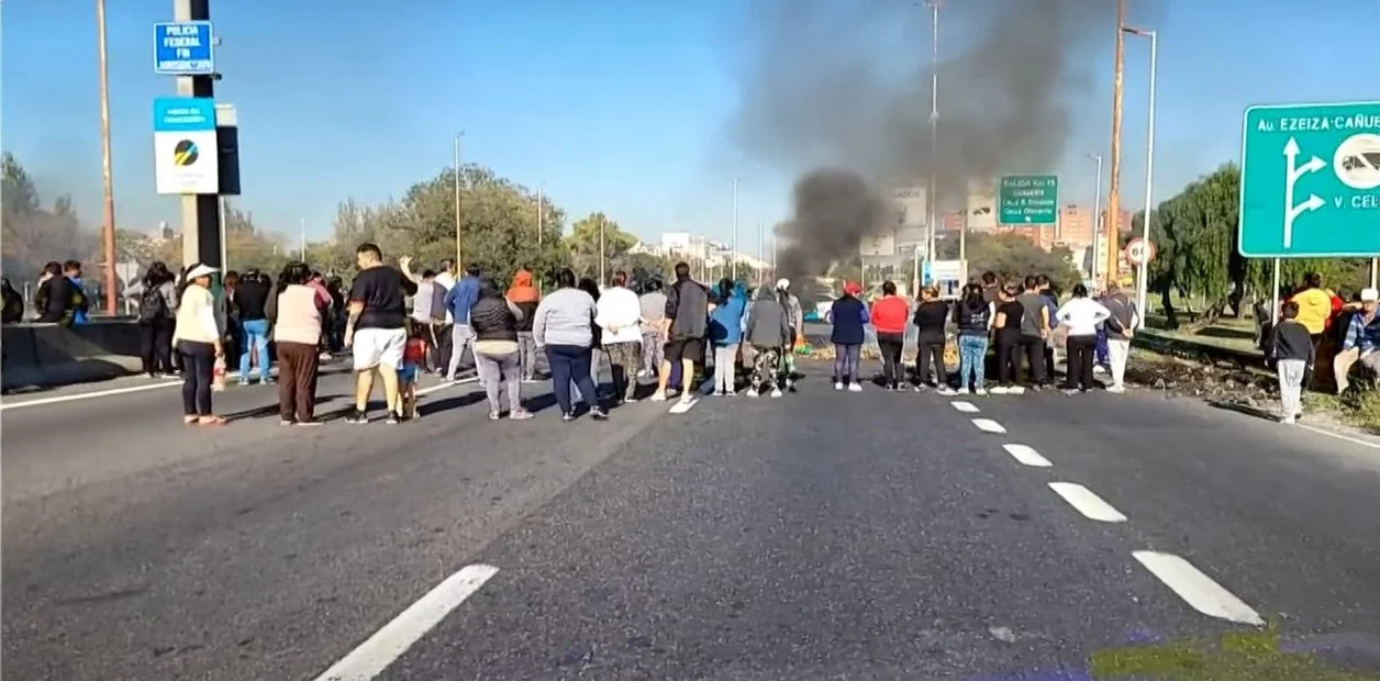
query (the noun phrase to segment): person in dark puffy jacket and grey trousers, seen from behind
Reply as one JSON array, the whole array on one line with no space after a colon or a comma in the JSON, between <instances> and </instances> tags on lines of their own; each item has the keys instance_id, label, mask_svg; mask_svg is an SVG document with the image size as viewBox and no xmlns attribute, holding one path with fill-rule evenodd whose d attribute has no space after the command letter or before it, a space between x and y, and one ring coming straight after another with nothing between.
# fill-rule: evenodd
<instances>
[{"instance_id":1,"label":"person in dark puffy jacket and grey trousers, seen from behind","mask_svg":"<svg viewBox=\"0 0 1380 681\"><path fill-rule=\"evenodd\" d=\"M506 299L498 283L480 281L479 301L469 309L475 332L475 368L489 397L489 420L502 418L502 389L508 386L508 418L526 420L531 414L522 407L522 350L518 327L523 312Z\"/></svg>"}]
</instances>

